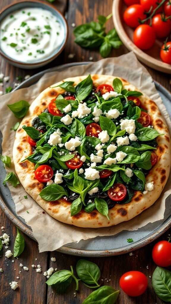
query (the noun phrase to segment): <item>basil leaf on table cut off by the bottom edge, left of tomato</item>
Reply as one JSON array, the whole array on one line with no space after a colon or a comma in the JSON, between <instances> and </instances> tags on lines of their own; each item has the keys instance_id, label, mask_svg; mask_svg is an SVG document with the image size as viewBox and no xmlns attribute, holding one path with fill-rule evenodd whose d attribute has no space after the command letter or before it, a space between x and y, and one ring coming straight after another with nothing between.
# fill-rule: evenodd
<instances>
[{"instance_id":1,"label":"basil leaf on table cut off by the bottom edge, left of tomato","mask_svg":"<svg viewBox=\"0 0 171 304\"><path fill-rule=\"evenodd\" d=\"M110 286L101 286L82 302L82 304L114 304L119 295L119 290Z\"/></svg>"}]
</instances>

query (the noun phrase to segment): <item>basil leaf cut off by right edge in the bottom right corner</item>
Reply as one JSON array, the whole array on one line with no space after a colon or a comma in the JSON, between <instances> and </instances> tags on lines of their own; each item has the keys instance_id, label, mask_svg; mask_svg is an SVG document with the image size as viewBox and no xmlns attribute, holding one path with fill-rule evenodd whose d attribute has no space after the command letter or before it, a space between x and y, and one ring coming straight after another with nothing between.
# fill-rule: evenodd
<instances>
[{"instance_id":1,"label":"basil leaf cut off by right edge in the bottom right corner","mask_svg":"<svg viewBox=\"0 0 171 304\"><path fill-rule=\"evenodd\" d=\"M171 271L156 267L152 275L155 294L165 302L171 302Z\"/></svg>"}]
</instances>

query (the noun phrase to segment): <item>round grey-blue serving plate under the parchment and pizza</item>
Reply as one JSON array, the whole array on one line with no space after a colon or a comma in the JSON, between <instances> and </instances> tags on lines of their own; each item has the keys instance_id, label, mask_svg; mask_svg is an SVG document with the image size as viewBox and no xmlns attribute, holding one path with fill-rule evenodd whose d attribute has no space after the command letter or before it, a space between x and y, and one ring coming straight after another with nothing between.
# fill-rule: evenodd
<instances>
[{"instance_id":1,"label":"round grey-blue serving plate under the parchment and pizza","mask_svg":"<svg viewBox=\"0 0 171 304\"><path fill-rule=\"evenodd\" d=\"M52 69L42 71L34 76L30 77L28 80L23 81L15 90L20 88L26 88L30 85L35 84L45 73L52 71L62 71L68 67L88 64L89 62L80 62L80 63L71 63L63 64ZM157 91L159 92L163 103L165 104L167 111L171 117L171 107L170 100L171 94L159 83L155 82ZM2 146L0 143L0 150ZM1 152L1 151L0 151ZM29 227L23 218L16 214L15 204L11 197L11 193L8 187L4 187L2 182L6 176L6 171L3 164L0 164L0 207L8 216L8 218L16 226L20 228L24 233L29 237L34 239L31 227ZM127 231L124 230L114 236L110 237L96 237L89 240L81 240L79 243L70 243L65 246L62 246L57 251L72 254L78 256L89 256L89 257L105 257L110 255L124 254L133 250L136 250L140 247L143 247L162 233L166 232L167 229L171 226L171 209L170 209L170 197L166 199L166 211L164 214L164 219L157 221L155 223L148 223L145 227L142 227L138 230ZM127 243L127 239L132 238L133 243Z\"/></svg>"}]
</instances>

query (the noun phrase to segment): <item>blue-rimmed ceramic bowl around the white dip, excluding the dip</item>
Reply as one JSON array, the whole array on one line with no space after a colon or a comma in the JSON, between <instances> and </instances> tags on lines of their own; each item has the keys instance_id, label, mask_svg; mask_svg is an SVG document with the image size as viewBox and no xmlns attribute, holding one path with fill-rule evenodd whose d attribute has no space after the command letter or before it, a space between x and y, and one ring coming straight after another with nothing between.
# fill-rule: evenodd
<instances>
[{"instance_id":1,"label":"blue-rimmed ceramic bowl around the white dip, excluding the dip","mask_svg":"<svg viewBox=\"0 0 171 304\"><path fill-rule=\"evenodd\" d=\"M12 64L16 67L23 68L23 69L35 69L38 67L43 67L44 65L50 63L52 60L54 60L56 57L58 57L59 54L61 54L61 52L64 49L65 44L67 42L67 38L68 38L68 23L67 23L65 17L62 16L61 12L58 11L58 9L56 9L53 5L51 5L49 3L45 3L40 0L37 0L37 1L20 0L18 2L14 2L10 5L5 6L0 12L0 22L2 22L2 20L6 16L12 14L13 12L20 10L20 9L26 9L26 8L41 8L41 9L46 9L46 10L50 11L54 16L56 16L58 18L61 27L64 29L64 37L63 37L63 40L61 41L61 44L54 50L54 52L49 57L44 58L43 60L40 59L40 60L34 61L32 63L14 60L13 58L11 58L7 54L5 54L0 47L0 55L2 57L4 57L10 64Z\"/></svg>"}]
</instances>

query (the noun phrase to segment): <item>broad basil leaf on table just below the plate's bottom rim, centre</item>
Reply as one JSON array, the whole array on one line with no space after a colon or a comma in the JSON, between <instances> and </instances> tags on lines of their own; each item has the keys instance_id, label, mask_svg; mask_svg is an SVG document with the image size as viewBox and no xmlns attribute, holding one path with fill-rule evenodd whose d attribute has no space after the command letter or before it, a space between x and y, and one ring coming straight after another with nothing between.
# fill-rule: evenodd
<instances>
[{"instance_id":1,"label":"broad basil leaf on table just below the plate's bottom rim, centre","mask_svg":"<svg viewBox=\"0 0 171 304\"><path fill-rule=\"evenodd\" d=\"M100 286L98 284L98 280L100 278L100 269L95 263L87 260L79 260L76 264L76 271L77 275L84 283L96 284L96 288Z\"/></svg>"}]
</instances>

